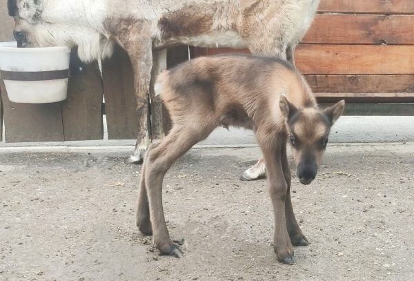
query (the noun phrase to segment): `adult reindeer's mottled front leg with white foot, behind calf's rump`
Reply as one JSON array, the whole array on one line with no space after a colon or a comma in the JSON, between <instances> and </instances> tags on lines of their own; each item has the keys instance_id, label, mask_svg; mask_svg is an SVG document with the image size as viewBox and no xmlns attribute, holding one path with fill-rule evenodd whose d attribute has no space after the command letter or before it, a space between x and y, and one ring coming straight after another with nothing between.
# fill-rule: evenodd
<instances>
[{"instance_id":1,"label":"adult reindeer's mottled front leg with white foot, behind calf's rump","mask_svg":"<svg viewBox=\"0 0 414 281\"><path fill-rule=\"evenodd\" d=\"M131 39L131 41L124 43L124 48L128 52L134 71L135 98L139 118L137 144L130 156L130 162L138 163L143 159L144 153L150 144L148 100L152 69L152 41L150 38L137 38L136 41Z\"/></svg>"}]
</instances>

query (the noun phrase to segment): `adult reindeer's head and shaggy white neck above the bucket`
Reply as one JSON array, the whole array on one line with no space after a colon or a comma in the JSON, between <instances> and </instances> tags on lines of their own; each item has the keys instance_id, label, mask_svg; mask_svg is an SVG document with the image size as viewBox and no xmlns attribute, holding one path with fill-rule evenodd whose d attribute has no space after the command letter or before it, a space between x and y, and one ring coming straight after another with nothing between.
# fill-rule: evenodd
<instances>
[{"instance_id":1,"label":"adult reindeer's head and shaggy white neck above the bucket","mask_svg":"<svg viewBox=\"0 0 414 281\"><path fill-rule=\"evenodd\" d=\"M29 23L32 46L78 46L82 61L112 55L114 42L103 28L105 0L22 0L17 8L17 20Z\"/></svg>"}]
</instances>

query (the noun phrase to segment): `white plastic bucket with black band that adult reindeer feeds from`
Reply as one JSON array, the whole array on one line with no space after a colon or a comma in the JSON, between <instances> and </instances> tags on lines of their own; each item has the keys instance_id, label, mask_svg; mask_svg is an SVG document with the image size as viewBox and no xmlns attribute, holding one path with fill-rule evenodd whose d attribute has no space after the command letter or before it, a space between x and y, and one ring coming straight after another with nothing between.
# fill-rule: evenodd
<instances>
[{"instance_id":1,"label":"white plastic bucket with black band that adult reindeer feeds from","mask_svg":"<svg viewBox=\"0 0 414 281\"><path fill-rule=\"evenodd\" d=\"M0 75L12 102L63 101L68 92L70 48L17 48L0 43Z\"/></svg>"}]
</instances>

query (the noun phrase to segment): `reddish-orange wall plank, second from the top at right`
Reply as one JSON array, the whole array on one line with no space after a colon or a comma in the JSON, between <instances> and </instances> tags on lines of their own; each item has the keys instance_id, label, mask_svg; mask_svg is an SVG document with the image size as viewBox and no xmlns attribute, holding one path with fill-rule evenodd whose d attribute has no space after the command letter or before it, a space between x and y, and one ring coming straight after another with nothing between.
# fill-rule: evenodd
<instances>
[{"instance_id":1,"label":"reddish-orange wall plank, second from the top at right","mask_svg":"<svg viewBox=\"0 0 414 281\"><path fill-rule=\"evenodd\" d=\"M302 43L414 44L413 26L414 14L317 14Z\"/></svg>"}]
</instances>

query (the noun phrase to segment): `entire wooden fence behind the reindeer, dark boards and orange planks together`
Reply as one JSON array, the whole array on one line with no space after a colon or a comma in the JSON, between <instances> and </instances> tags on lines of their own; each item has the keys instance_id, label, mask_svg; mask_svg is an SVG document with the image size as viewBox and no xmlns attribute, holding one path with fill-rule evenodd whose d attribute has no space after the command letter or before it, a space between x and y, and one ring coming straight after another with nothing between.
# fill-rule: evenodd
<instances>
[{"instance_id":1,"label":"entire wooden fence behind the reindeer, dark boards and orange planks together","mask_svg":"<svg viewBox=\"0 0 414 281\"><path fill-rule=\"evenodd\" d=\"M1 5L0 41L12 40L12 26L6 5ZM389 114L389 103L405 103L393 114L412 115L413 107L407 103L414 102L413 26L413 0L322 0L311 29L297 47L295 61L319 101L387 103L381 105L382 114ZM192 57L234 52L192 50ZM186 59L186 46L172 48L167 66ZM126 52L117 47L100 69L97 62L82 64L73 50L70 70L68 99L54 104L14 104L0 80L0 139L3 121L6 142L102 139L103 114L109 139L135 139L139 126ZM371 113L364 104L355 108L348 114ZM162 124L152 126L168 128L165 115L157 120Z\"/></svg>"}]
</instances>

